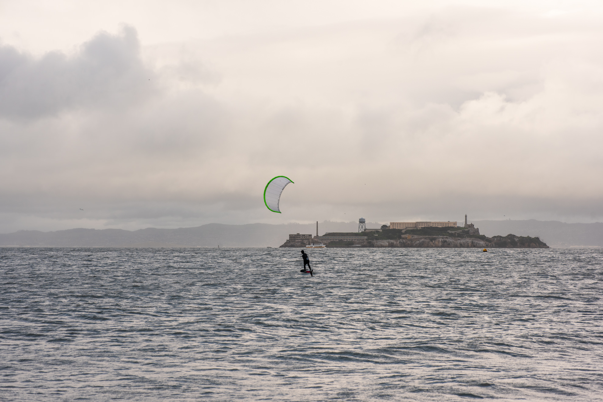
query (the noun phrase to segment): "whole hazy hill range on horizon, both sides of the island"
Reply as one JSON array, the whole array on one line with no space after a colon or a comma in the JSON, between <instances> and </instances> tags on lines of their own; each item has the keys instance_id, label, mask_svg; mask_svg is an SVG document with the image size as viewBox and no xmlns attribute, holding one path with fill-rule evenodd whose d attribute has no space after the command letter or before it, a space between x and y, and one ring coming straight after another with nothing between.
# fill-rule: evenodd
<instances>
[{"instance_id":1,"label":"whole hazy hill range on horizon, both sides of the island","mask_svg":"<svg viewBox=\"0 0 603 402\"><path fill-rule=\"evenodd\" d=\"M488 237L538 236L551 247L603 247L603 224L558 221L473 221ZM367 227L380 227L367 222ZM322 222L319 234L355 232L358 222ZM0 247L279 247L291 233L316 234L316 224L207 224L191 228L140 230L69 229L42 232L19 230L0 234Z\"/></svg>"}]
</instances>

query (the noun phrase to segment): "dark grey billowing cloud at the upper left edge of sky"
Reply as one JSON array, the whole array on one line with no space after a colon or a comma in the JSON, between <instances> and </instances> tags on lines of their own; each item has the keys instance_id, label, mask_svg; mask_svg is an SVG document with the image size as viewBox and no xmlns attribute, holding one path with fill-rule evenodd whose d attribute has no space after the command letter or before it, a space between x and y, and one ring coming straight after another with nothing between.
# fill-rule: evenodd
<instances>
[{"instance_id":1,"label":"dark grey billowing cloud at the upper left edge of sky","mask_svg":"<svg viewBox=\"0 0 603 402\"><path fill-rule=\"evenodd\" d=\"M136 30L99 33L72 55L43 57L0 48L0 116L38 118L68 108L120 108L150 95L154 74L140 61ZM151 81L153 80L153 81Z\"/></svg>"}]
</instances>

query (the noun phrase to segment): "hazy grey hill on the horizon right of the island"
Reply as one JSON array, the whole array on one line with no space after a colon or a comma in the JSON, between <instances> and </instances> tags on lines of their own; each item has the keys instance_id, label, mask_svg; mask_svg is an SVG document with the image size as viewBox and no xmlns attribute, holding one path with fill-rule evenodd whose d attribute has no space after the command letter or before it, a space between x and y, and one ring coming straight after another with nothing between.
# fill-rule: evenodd
<instances>
[{"instance_id":1,"label":"hazy grey hill on the horizon right of the island","mask_svg":"<svg viewBox=\"0 0 603 402\"><path fill-rule=\"evenodd\" d=\"M538 236L540 240L554 248L603 247L603 223L566 224L559 221L473 221L479 233L488 237Z\"/></svg>"}]
</instances>

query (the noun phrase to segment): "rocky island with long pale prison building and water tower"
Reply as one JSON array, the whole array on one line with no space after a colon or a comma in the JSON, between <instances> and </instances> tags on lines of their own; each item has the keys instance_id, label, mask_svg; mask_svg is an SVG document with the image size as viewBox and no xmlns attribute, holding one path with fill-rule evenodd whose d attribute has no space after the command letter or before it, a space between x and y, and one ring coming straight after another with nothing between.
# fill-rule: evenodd
<instances>
[{"instance_id":1,"label":"rocky island with long pale prison building and water tower","mask_svg":"<svg viewBox=\"0 0 603 402\"><path fill-rule=\"evenodd\" d=\"M303 237L302 237L303 236ZM297 235L280 247L306 247L323 243L326 247L399 247L399 248L549 248L538 237L486 237L472 227L424 227L420 229L389 229L360 233L325 233L323 236Z\"/></svg>"}]
</instances>

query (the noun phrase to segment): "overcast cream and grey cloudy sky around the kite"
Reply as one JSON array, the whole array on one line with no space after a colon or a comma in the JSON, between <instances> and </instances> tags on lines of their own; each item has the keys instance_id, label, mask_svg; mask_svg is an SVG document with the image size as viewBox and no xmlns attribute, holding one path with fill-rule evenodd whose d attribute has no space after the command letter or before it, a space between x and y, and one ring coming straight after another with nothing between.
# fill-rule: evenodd
<instances>
[{"instance_id":1,"label":"overcast cream and grey cloudy sky around the kite","mask_svg":"<svg viewBox=\"0 0 603 402\"><path fill-rule=\"evenodd\" d=\"M0 1L0 233L603 221L601 43L600 1Z\"/></svg>"}]
</instances>

